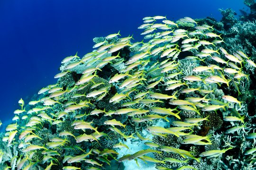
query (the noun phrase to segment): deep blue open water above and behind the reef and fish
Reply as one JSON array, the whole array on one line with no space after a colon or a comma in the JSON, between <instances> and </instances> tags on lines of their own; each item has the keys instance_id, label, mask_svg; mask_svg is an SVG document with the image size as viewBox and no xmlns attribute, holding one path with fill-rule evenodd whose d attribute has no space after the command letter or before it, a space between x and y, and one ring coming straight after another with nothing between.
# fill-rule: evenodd
<instances>
[{"instance_id":1,"label":"deep blue open water above and behind the reef and fish","mask_svg":"<svg viewBox=\"0 0 256 170\"><path fill-rule=\"evenodd\" d=\"M55 84L61 60L90 52L94 37L121 30L141 41L143 17L220 20L218 8L249 12L243 0L0 0L0 120L14 116L20 97Z\"/></svg>"}]
</instances>

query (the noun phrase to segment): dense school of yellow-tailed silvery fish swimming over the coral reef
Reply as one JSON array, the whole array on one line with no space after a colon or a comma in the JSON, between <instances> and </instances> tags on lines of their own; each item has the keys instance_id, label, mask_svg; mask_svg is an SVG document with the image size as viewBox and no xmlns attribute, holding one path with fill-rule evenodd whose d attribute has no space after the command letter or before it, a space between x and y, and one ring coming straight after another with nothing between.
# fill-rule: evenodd
<instances>
[{"instance_id":1,"label":"dense school of yellow-tailed silvery fish swimming over the coral reef","mask_svg":"<svg viewBox=\"0 0 256 170\"><path fill-rule=\"evenodd\" d=\"M232 147L210 150L200 153L200 157L196 158L187 150L155 144L139 131L129 133L126 131L127 124L113 119L114 116L124 114L134 123L162 119L169 123L169 127L152 125L145 127L144 130L151 136L166 137L169 134L182 136L182 145L208 145L211 144L211 135L199 136L193 131L193 128L201 126L202 121L210 121L209 116L202 117L202 113L227 110L231 106L233 109L242 107L241 101L228 94L223 95L221 101L210 99L209 94L214 93L216 89L201 89L201 85L218 84L219 87L230 87L232 83L239 95L238 84L240 81L247 81L249 77L242 68L246 64L256 68L255 62L242 51L230 51L229 53L219 47L220 43L225 42L220 34L213 32L214 26L198 25L190 17L180 20L184 23L193 23L194 27L184 28L163 16L145 17L143 18L144 24L138 26L138 29L143 30L141 35L144 36L144 41L132 42L132 36L119 38L120 32L118 32L106 36L103 42L96 43L93 46L95 50L85 54L82 58L78 57L77 53L64 58L61 62L65 64L64 71L56 74L55 78L71 74L76 67L84 68L82 76L73 87L65 88L56 83L42 88L38 94L44 94L45 97L38 101L30 101L28 104L31 110L26 110L22 99L18 101L21 108L14 111L14 123L6 127L6 133L2 138L2 141L8 143L9 147L18 144L20 149L18 157L13 158L10 166L17 167L18 170L29 170L37 164L45 164L45 169L50 170L51 167L62 164L63 170L81 170L81 167L77 167L79 165L77 162L86 162L86 170L101 170L104 164L110 165L111 159L119 162L131 161L131 163L135 163L132 160L137 162L137 159L155 163L183 162L168 157L159 161L153 156L147 156L148 153L177 153L187 161L191 159L202 161L204 157L217 157L229 150L232 151ZM113 40L113 43L109 43L109 40ZM137 49L137 52L122 58L120 51L124 48ZM190 54L190 51L197 52L193 56L186 56ZM182 59L197 63L196 67L191 68L190 75L184 75L183 68L180 69L180 56L183 56ZM211 60L212 64L205 65L205 59ZM107 65L111 68L122 65L123 69L109 77L108 85L95 83L93 80ZM88 85L93 89L90 93L77 93ZM102 88L97 88L100 85ZM117 93L112 93L112 87L117 89ZM187 97L189 93L196 93L200 97ZM70 101L71 98L82 96L86 100ZM92 102L97 105L97 102L104 100L107 96L110 97L110 104L120 103L120 108L108 111L94 109L89 113L81 114L81 110L89 108ZM163 104L164 107L159 107ZM55 111L56 106L61 111ZM200 118L187 118L182 121L179 113L183 110L196 112ZM93 120L87 121L89 117L99 119L102 116L108 119L104 121L106 128L96 127ZM45 126L46 124L61 126L68 117L74 117L72 128L80 134L79 136L63 131L58 134L59 137L50 138L46 142L38 136L38 129L49 128ZM225 116L224 121L240 124L240 126L228 129L226 133L234 133L243 128L245 119L245 115L240 114L230 113L229 116ZM25 126L21 125L21 122L25 122ZM86 129L91 129L91 134ZM88 150L88 148L81 148L70 142L74 139L77 144L99 143L102 138L108 137L109 130L119 135L120 139L143 140L148 149L131 153L128 145L120 142L113 148L104 150L90 148ZM249 137L250 139L256 138L256 135L250 134ZM41 140L42 143L34 144L35 139ZM61 149L77 148L81 150L81 154L74 156L59 153ZM118 148L127 148L128 154L119 156ZM246 154L253 154L255 151L255 148L251 148ZM39 162L31 161L36 152L43 154L43 159ZM1 152L0 155L2 154ZM93 159L90 157L92 155ZM156 166L156 168L170 170L161 166ZM181 166L177 170L189 168L195 169L192 166Z\"/></svg>"}]
</instances>

